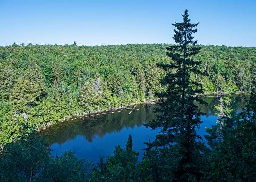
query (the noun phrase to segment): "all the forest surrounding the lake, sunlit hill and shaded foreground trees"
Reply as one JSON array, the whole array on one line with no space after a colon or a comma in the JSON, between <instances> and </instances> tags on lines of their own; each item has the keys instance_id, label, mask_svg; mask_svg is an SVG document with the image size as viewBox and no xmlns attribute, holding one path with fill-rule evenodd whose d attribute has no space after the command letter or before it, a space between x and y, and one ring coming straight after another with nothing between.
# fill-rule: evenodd
<instances>
[{"instance_id":1,"label":"all the forest surrounding the lake, sunlit hill and shaded foreground trees","mask_svg":"<svg viewBox=\"0 0 256 182\"><path fill-rule=\"evenodd\" d=\"M198 45L198 23L187 10L182 17L172 24L172 45L0 47L0 180L254 181L256 48ZM230 108L235 93L251 94L241 113ZM210 147L196 134L203 113L195 103L208 94L224 95L207 128ZM157 119L144 125L160 132L145 141L142 161L131 135L98 164L71 151L51 156L39 135L73 117L155 99Z\"/></svg>"}]
</instances>

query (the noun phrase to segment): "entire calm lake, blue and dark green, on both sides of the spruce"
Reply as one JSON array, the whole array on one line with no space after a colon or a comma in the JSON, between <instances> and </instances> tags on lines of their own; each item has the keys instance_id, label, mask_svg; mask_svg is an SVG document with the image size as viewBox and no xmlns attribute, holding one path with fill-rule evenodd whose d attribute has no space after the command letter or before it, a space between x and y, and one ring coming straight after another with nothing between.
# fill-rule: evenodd
<instances>
[{"instance_id":1,"label":"entire calm lake, blue and dark green, on both sides of the spruce","mask_svg":"<svg viewBox=\"0 0 256 182\"><path fill-rule=\"evenodd\" d=\"M249 97L237 95L234 108L239 113L245 106ZM199 135L207 135L205 127L215 125L217 119L214 115L214 105L218 105L218 97L203 97L207 105L199 105L199 109L205 113L201 116L203 123L197 129ZM113 155L116 145L125 148L129 134L132 135L133 150L140 152L142 159L146 147L144 142L155 139L159 130L151 131L142 124L156 118L153 112L156 105L140 104L139 110L125 110L123 112L108 113L91 117L77 118L52 125L42 131L45 142L52 155L61 155L65 151L74 151L79 158L85 157L97 163L99 156ZM130 113L130 114L129 114Z\"/></svg>"}]
</instances>

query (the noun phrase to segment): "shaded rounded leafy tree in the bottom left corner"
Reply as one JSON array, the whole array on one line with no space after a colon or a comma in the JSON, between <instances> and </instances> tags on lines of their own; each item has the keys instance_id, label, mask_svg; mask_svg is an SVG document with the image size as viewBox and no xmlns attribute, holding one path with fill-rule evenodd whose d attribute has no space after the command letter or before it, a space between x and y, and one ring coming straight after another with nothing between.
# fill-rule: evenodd
<instances>
[{"instance_id":1,"label":"shaded rounded leafy tree in the bottom left corner","mask_svg":"<svg viewBox=\"0 0 256 182\"><path fill-rule=\"evenodd\" d=\"M1 149L1 181L34 181L42 170L42 164L50 160L41 139L36 134L27 134L15 144Z\"/></svg>"}]
</instances>

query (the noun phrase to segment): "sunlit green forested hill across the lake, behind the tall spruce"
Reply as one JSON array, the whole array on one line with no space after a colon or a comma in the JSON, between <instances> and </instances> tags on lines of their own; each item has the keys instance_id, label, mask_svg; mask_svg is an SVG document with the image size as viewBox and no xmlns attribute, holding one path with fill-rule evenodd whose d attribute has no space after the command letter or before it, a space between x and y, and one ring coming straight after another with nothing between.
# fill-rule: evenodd
<instances>
[{"instance_id":1,"label":"sunlit green forested hill across the lake, behind the tall spruce","mask_svg":"<svg viewBox=\"0 0 256 182\"><path fill-rule=\"evenodd\" d=\"M28 45L0 47L0 143L72 116L153 99L164 91L156 63L169 62L168 44L108 46ZM203 46L204 92L250 92L255 47Z\"/></svg>"}]
</instances>

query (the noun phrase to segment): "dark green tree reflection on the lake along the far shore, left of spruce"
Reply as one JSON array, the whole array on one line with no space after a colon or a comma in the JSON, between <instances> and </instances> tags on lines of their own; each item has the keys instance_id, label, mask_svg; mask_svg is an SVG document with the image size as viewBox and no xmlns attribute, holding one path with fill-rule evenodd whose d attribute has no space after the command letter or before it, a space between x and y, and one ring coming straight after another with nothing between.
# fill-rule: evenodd
<instances>
[{"instance_id":1,"label":"dark green tree reflection on the lake along the far shore, left of spruce","mask_svg":"<svg viewBox=\"0 0 256 182\"><path fill-rule=\"evenodd\" d=\"M77 135L83 136L88 142L93 142L97 136L100 139L104 135L113 132L120 132L125 128L134 129L141 127L142 123L155 118L154 105L139 105L139 110L126 110L124 112L108 113L92 117L78 118L68 122L53 125L43 132L46 143L52 145L65 143L73 140Z\"/></svg>"}]
</instances>

